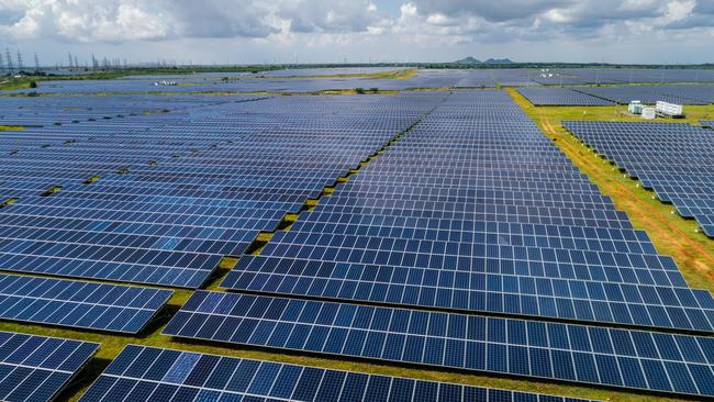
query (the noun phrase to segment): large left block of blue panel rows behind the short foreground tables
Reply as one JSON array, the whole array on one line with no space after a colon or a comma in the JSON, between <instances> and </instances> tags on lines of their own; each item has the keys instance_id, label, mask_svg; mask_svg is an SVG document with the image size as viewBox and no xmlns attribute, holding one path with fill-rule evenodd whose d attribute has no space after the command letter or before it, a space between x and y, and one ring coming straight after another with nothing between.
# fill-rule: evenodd
<instances>
[{"instance_id":1,"label":"large left block of blue panel rows behind the short foreground tables","mask_svg":"<svg viewBox=\"0 0 714 402\"><path fill-rule=\"evenodd\" d=\"M23 147L3 155L11 179L0 191L19 201L0 210L0 269L199 287L432 98L238 98L160 124L137 118L137 130L53 129L75 139L49 147L47 129L23 131ZM100 180L82 182L92 175ZM51 186L63 189L40 197Z\"/></svg>"}]
</instances>

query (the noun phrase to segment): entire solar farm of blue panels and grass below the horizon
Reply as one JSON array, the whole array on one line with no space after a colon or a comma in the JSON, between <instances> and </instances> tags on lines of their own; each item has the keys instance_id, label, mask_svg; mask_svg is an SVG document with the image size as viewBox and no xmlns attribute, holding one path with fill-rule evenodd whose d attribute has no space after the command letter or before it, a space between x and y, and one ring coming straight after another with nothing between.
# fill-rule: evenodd
<instances>
[{"instance_id":1,"label":"entire solar farm of blue panels and grass below the horizon","mask_svg":"<svg viewBox=\"0 0 714 402\"><path fill-rule=\"evenodd\" d=\"M712 107L390 71L0 97L0 400L714 398Z\"/></svg>"}]
</instances>

